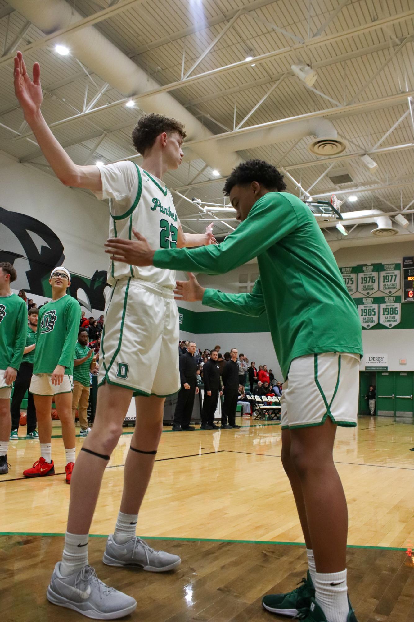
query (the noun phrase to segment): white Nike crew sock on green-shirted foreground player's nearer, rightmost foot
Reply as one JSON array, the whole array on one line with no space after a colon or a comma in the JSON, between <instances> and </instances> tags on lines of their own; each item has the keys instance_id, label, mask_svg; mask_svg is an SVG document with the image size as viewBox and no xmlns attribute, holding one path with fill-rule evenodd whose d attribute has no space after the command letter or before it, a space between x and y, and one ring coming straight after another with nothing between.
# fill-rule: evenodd
<instances>
[{"instance_id":1,"label":"white Nike crew sock on green-shirted foreground player's nearer, rightmost foot","mask_svg":"<svg viewBox=\"0 0 414 622\"><path fill-rule=\"evenodd\" d=\"M342 572L315 573L315 600L327 622L346 622L349 612L346 570Z\"/></svg>"}]
</instances>

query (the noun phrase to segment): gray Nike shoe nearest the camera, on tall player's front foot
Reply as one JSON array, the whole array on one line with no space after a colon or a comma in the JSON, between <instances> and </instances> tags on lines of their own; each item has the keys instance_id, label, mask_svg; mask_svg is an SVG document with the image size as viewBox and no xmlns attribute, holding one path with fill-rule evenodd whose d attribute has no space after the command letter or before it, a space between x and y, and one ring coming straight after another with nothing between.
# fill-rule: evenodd
<instances>
[{"instance_id":1,"label":"gray Nike shoe nearest the camera, on tall player's front foot","mask_svg":"<svg viewBox=\"0 0 414 622\"><path fill-rule=\"evenodd\" d=\"M102 583L91 566L62 577L60 563L55 565L47 588L47 600L54 605L73 609L94 620L117 620L135 610L135 598Z\"/></svg>"}]
</instances>

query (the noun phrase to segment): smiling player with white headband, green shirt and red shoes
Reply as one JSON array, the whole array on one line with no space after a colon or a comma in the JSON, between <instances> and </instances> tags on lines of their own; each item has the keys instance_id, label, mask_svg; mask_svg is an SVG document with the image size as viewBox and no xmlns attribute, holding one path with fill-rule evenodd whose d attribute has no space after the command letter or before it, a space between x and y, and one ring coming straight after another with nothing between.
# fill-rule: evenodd
<instances>
[{"instance_id":1,"label":"smiling player with white headband, green shirt and red shoes","mask_svg":"<svg viewBox=\"0 0 414 622\"><path fill-rule=\"evenodd\" d=\"M81 307L66 294L70 273L60 266L52 270L52 300L39 312L30 392L34 394L40 440L40 458L23 471L25 477L53 475L52 401L62 426L66 454L66 483L70 483L75 458L75 427L72 417L74 346L78 337Z\"/></svg>"}]
</instances>

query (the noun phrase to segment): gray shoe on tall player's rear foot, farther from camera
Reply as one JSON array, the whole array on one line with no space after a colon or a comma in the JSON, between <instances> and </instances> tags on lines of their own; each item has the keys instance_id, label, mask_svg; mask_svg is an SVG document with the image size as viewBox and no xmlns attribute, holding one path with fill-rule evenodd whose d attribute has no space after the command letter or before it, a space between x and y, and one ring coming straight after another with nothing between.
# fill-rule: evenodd
<instances>
[{"instance_id":1,"label":"gray shoe on tall player's rear foot, farther from camera","mask_svg":"<svg viewBox=\"0 0 414 622\"><path fill-rule=\"evenodd\" d=\"M181 564L181 559L178 555L151 549L138 537L126 544L116 544L114 538L109 536L103 562L108 566L135 566L150 572L166 572Z\"/></svg>"}]
</instances>

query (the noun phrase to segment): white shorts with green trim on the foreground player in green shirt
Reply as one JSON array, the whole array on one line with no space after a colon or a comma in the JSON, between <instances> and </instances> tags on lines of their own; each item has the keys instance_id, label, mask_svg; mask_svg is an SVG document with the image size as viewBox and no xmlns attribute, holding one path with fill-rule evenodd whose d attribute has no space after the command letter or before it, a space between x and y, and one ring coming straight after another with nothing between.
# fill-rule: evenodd
<instances>
[{"instance_id":1,"label":"white shorts with green trim on the foreground player in green shirt","mask_svg":"<svg viewBox=\"0 0 414 622\"><path fill-rule=\"evenodd\" d=\"M282 429L322 425L355 426L358 415L359 355L326 352L290 363L281 397Z\"/></svg>"}]
</instances>

